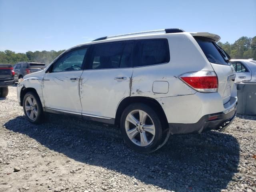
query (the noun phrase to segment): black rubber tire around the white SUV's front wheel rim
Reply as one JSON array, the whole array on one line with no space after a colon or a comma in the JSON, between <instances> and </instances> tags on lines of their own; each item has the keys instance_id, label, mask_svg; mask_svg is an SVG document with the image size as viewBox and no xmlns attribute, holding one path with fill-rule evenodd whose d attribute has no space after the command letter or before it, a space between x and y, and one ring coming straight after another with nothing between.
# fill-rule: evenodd
<instances>
[{"instance_id":1,"label":"black rubber tire around the white SUV's front wheel rim","mask_svg":"<svg viewBox=\"0 0 256 192\"><path fill-rule=\"evenodd\" d=\"M35 101L36 101L36 110L37 110L37 116L35 119L31 119L27 112L26 112L26 99L28 97L31 97L33 98ZM27 92L24 96L24 99L23 99L23 111L24 111L24 114L26 116L26 118L31 122L31 123L34 123L34 124L40 124L43 120L44 120L44 111L43 111L43 108L42 108L42 103L40 101L40 98L38 97L38 95L35 93L35 92Z\"/></svg>"}]
</instances>

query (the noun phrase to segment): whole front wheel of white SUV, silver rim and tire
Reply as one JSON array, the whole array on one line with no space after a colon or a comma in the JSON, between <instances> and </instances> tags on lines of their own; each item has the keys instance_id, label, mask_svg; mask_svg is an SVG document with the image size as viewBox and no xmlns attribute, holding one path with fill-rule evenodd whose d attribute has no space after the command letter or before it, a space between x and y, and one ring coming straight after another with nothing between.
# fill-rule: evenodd
<instances>
[{"instance_id":1,"label":"whole front wheel of white SUV, silver rim and tire","mask_svg":"<svg viewBox=\"0 0 256 192\"><path fill-rule=\"evenodd\" d=\"M28 92L23 99L23 110L25 116L32 123L38 124L43 120L43 108L38 95Z\"/></svg>"}]
</instances>

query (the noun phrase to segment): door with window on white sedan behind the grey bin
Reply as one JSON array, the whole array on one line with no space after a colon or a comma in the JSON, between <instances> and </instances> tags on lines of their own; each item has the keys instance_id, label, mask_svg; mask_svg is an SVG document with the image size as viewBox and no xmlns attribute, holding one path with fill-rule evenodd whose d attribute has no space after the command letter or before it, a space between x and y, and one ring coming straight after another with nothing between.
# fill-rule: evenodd
<instances>
[{"instance_id":1,"label":"door with window on white sedan behind the grey bin","mask_svg":"<svg viewBox=\"0 0 256 192\"><path fill-rule=\"evenodd\" d=\"M243 62L232 61L232 65L236 71L236 82L250 81L252 79L252 72Z\"/></svg>"}]
</instances>

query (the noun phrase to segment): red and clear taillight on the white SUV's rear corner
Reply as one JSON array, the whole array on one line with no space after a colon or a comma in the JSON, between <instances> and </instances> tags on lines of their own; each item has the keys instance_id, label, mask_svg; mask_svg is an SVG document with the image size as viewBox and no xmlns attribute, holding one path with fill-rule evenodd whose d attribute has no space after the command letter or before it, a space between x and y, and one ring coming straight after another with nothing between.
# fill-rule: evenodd
<instances>
[{"instance_id":1,"label":"red and clear taillight on the white SUV's rear corner","mask_svg":"<svg viewBox=\"0 0 256 192\"><path fill-rule=\"evenodd\" d=\"M198 92L218 91L218 77L214 71L188 72L180 75L179 78Z\"/></svg>"}]
</instances>

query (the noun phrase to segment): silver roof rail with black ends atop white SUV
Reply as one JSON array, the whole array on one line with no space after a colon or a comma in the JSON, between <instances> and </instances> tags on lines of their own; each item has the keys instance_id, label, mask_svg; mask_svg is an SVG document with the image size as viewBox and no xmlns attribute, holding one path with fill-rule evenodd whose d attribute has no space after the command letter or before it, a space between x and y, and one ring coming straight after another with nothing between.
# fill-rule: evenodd
<instances>
[{"instance_id":1,"label":"silver roof rail with black ends atop white SUV","mask_svg":"<svg viewBox=\"0 0 256 192\"><path fill-rule=\"evenodd\" d=\"M99 41L99 40L104 40L108 38L114 38L114 37L121 37L121 36L128 36L128 35L136 35L136 34L144 34L144 33L156 33L156 32L165 32L165 33L182 33L185 32L182 29L178 28L172 28L172 29L159 29L159 30L152 30L152 31L142 31L142 32L135 32L135 33L127 33L127 34L121 34L121 35L113 35L113 36L105 36L105 37L100 37L92 41Z\"/></svg>"}]
</instances>

